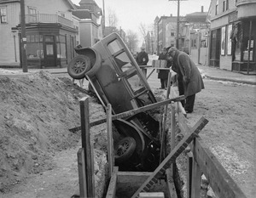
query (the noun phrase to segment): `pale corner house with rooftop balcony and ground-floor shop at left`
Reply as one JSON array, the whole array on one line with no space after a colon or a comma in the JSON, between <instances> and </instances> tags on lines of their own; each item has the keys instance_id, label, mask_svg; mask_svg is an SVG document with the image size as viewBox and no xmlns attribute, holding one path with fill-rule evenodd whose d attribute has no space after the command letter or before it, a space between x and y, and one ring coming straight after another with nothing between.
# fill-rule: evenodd
<instances>
[{"instance_id":1,"label":"pale corner house with rooftop balcony and ground-floor shop at left","mask_svg":"<svg viewBox=\"0 0 256 198\"><path fill-rule=\"evenodd\" d=\"M28 67L65 67L75 55L78 29L70 0L25 0ZM0 64L20 65L20 0L0 0Z\"/></svg>"}]
</instances>

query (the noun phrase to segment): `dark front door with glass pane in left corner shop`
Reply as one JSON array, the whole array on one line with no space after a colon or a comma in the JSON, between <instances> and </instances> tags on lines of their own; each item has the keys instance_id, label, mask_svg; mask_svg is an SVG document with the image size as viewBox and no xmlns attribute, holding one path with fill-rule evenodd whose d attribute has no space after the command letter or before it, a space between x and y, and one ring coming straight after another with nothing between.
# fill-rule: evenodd
<instances>
[{"instance_id":1,"label":"dark front door with glass pane in left corner shop","mask_svg":"<svg viewBox=\"0 0 256 198\"><path fill-rule=\"evenodd\" d=\"M44 37L44 66L56 66L56 50L55 50L55 36Z\"/></svg>"}]
</instances>

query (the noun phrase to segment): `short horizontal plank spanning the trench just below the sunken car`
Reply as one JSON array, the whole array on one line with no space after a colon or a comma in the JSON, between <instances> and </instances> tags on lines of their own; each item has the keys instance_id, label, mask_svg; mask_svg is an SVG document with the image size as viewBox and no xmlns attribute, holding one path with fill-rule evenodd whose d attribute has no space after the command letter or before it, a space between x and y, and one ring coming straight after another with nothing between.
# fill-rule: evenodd
<instances>
[{"instance_id":1,"label":"short horizontal plank spanning the trench just below the sunken car","mask_svg":"<svg viewBox=\"0 0 256 198\"><path fill-rule=\"evenodd\" d=\"M119 172L118 183L143 184L151 174L150 172Z\"/></svg>"}]
</instances>

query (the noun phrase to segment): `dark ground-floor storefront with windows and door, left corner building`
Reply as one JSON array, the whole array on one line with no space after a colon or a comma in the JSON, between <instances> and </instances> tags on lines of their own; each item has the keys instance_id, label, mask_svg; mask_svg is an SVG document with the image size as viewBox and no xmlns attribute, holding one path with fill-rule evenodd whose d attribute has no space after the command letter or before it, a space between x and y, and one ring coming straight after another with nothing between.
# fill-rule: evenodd
<instances>
[{"instance_id":1,"label":"dark ground-floor storefront with windows and door, left corner building","mask_svg":"<svg viewBox=\"0 0 256 198\"><path fill-rule=\"evenodd\" d=\"M75 55L76 33L76 29L60 24L26 25L28 67L67 67Z\"/></svg>"}]
</instances>

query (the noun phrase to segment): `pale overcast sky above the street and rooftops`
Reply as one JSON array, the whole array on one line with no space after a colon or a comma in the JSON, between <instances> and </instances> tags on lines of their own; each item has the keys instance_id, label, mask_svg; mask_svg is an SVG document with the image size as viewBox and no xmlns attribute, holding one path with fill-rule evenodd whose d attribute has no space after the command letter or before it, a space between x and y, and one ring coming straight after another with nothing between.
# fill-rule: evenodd
<instances>
[{"instance_id":1,"label":"pale overcast sky above the street and rooftops","mask_svg":"<svg viewBox=\"0 0 256 198\"><path fill-rule=\"evenodd\" d=\"M103 0L95 0L100 8ZM72 0L79 5L80 0ZM105 13L108 16L108 10L113 10L118 18L118 26L123 30L135 31L138 37L142 37L139 31L139 25L142 23L148 27L154 24L156 16L177 16L177 1L168 0L104 0ZM211 0L186 0L180 1L180 15L201 12L201 6L204 12L208 11Z\"/></svg>"}]
</instances>

